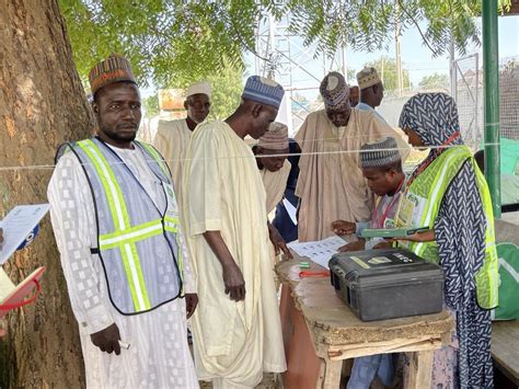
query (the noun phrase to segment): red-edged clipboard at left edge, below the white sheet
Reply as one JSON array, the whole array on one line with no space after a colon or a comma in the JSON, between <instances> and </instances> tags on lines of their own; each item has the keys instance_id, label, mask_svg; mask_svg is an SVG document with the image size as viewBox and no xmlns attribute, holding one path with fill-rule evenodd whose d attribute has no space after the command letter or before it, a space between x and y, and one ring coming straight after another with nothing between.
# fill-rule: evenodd
<instances>
[{"instance_id":1,"label":"red-edged clipboard at left edge, below the white sheet","mask_svg":"<svg viewBox=\"0 0 519 389\"><path fill-rule=\"evenodd\" d=\"M44 266L36 268L18 286L14 286L0 267L0 282L2 283L2 289L0 289L0 291L2 291L3 295L3 298L0 300L0 319L8 314L10 310L26 306L36 300L42 291L39 279L45 273L45 270ZM36 290L34 291L34 289ZM32 296L27 298L31 294Z\"/></svg>"}]
</instances>

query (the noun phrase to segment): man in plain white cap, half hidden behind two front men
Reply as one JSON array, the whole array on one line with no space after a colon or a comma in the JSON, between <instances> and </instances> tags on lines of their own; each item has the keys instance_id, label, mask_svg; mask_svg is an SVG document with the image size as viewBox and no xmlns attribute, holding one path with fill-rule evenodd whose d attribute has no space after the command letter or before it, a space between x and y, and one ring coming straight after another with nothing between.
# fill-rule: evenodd
<instances>
[{"instance_id":1,"label":"man in plain white cap, half hidden behind two front men","mask_svg":"<svg viewBox=\"0 0 519 389\"><path fill-rule=\"evenodd\" d=\"M182 167L189 138L196 126L203 123L211 106L211 85L208 82L196 82L187 88L184 107L186 118L159 121L153 146L164 157L173 176L176 194L182 190Z\"/></svg>"}]
</instances>

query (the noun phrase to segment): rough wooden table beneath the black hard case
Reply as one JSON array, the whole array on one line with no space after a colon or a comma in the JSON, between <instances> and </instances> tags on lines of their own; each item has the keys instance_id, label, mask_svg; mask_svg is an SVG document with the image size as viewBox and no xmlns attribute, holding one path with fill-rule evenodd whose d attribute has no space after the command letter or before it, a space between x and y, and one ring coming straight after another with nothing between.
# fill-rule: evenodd
<instances>
[{"instance_id":1,"label":"rough wooden table beneath the black hard case","mask_svg":"<svg viewBox=\"0 0 519 389\"><path fill-rule=\"evenodd\" d=\"M407 388L429 388L432 353L449 344L454 322L437 314L362 322L335 295L330 277L300 278L296 253L276 265L282 283L281 324L288 369L285 388L339 387L343 361L383 353L410 353ZM323 271L311 263L310 271Z\"/></svg>"}]
</instances>

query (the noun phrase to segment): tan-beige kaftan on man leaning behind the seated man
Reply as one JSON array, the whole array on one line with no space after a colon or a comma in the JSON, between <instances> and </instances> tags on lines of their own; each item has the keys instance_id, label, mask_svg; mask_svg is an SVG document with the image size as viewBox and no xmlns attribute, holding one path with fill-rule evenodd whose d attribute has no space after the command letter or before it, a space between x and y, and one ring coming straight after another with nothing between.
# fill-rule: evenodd
<instances>
[{"instance_id":1,"label":"tan-beige kaftan on man leaning behind the seated man","mask_svg":"<svg viewBox=\"0 0 519 389\"><path fill-rule=\"evenodd\" d=\"M299 241L332 236L330 226L337 219L369 220L373 195L362 176L358 150L364 144L383 136L396 139L405 160L410 151L407 144L371 112L351 108L348 125L341 130L327 118L324 110L307 116L296 135L302 150L296 188L296 195L301 198Z\"/></svg>"}]
</instances>

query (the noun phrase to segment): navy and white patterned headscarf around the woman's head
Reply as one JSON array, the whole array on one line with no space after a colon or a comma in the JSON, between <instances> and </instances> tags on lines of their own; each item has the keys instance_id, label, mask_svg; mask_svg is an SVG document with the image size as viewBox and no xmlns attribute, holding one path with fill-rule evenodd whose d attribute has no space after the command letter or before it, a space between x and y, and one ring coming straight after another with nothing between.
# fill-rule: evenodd
<instances>
[{"instance_id":1,"label":"navy and white patterned headscarf around the woman's head","mask_svg":"<svg viewBox=\"0 0 519 389\"><path fill-rule=\"evenodd\" d=\"M454 99L445 93L419 93L402 108L400 128L414 130L425 146L441 146L460 130ZM461 137L449 145L463 145Z\"/></svg>"}]
</instances>

